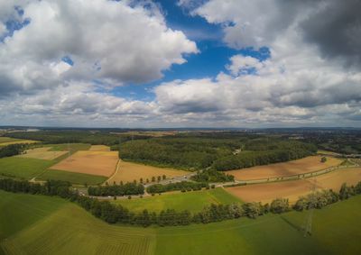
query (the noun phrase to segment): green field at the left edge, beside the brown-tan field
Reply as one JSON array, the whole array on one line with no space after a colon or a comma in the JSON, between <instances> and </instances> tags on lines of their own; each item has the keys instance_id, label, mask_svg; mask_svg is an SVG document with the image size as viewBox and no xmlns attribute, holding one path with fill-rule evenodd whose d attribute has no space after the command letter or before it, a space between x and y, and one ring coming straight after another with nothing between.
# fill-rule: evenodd
<instances>
[{"instance_id":1,"label":"green field at the left edge, beside the brown-tan field","mask_svg":"<svg viewBox=\"0 0 361 255\"><path fill-rule=\"evenodd\" d=\"M54 164L53 160L9 157L0 159L0 175L31 179Z\"/></svg>"}]
</instances>

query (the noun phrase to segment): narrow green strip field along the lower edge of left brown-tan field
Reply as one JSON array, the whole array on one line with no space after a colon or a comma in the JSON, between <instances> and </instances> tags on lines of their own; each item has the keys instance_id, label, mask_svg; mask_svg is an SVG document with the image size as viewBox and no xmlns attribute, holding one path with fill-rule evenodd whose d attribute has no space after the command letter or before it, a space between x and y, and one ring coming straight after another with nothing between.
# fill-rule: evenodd
<instances>
[{"instance_id":1,"label":"narrow green strip field along the lower edge of left brown-tan field","mask_svg":"<svg viewBox=\"0 0 361 255\"><path fill-rule=\"evenodd\" d=\"M47 179L55 179L55 180L65 180L69 181L73 184L88 184L88 185L97 185L99 183L103 183L106 181L106 177L101 176L93 176L88 174L80 174L73 173L68 171L60 171L48 169L42 173L37 179L47 180Z\"/></svg>"}]
</instances>

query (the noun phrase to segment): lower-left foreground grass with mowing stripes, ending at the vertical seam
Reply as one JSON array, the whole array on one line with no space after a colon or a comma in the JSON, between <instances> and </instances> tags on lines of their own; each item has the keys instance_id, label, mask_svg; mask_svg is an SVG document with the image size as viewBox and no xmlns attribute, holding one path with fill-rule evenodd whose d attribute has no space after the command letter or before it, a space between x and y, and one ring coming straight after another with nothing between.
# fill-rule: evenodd
<instances>
[{"instance_id":1,"label":"lower-left foreground grass with mowing stripes, ending at the vertical seam","mask_svg":"<svg viewBox=\"0 0 361 255\"><path fill-rule=\"evenodd\" d=\"M151 231L108 225L56 197L0 192L0 207L6 254L141 255L153 250Z\"/></svg>"}]
</instances>

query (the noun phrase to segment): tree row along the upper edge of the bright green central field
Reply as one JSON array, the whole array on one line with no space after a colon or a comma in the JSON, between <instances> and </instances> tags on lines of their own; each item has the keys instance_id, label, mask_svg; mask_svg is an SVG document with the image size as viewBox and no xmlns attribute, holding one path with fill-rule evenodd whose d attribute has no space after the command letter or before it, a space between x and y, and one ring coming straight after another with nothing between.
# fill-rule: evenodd
<instances>
[{"instance_id":1,"label":"tree row along the upper edge of the bright green central field","mask_svg":"<svg viewBox=\"0 0 361 255\"><path fill-rule=\"evenodd\" d=\"M176 183L169 184L154 184L146 188L146 191L150 194L163 193L174 190L181 190L182 192L191 191L191 190L200 190L203 187L209 188L208 183L206 182L190 182L190 181L181 181Z\"/></svg>"}]
</instances>

